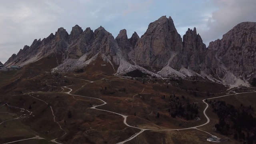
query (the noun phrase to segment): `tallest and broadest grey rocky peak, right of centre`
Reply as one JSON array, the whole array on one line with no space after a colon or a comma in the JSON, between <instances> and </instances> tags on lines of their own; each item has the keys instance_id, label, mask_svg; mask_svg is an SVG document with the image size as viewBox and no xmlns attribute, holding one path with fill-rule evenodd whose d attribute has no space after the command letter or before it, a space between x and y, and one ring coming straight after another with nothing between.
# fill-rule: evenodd
<instances>
[{"instance_id":1,"label":"tallest and broadest grey rocky peak, right of centre","mask_svg":"<svg viewBox=\"0 0 256 144\"><path fill-rule=\"evenodd\" d=\"M176 70L181 67L182 38L171 17L162 16L150 23L134 50L134 60L141 66L161 69L168 64Z\"/></svg>"}]
</instances>

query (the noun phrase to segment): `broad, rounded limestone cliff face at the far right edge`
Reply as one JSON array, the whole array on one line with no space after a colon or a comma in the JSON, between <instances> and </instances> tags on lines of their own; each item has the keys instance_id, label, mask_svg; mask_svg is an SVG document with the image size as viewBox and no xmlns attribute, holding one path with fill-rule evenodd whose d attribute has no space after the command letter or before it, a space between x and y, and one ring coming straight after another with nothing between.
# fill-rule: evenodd
<instances>
[{"instance_id":1,"label":"broad, rounded limestone cliff face at the far right edge","mask_svg":"<svg viewBox=\"0 0 256 144\"><path fill-rule=\"evenodd\" d=\"M242 22L223 35L221 40L210 42L205 68L224 78L226 71L241 79L256 76L256 23Z\"/></svg>"}]
</instances>

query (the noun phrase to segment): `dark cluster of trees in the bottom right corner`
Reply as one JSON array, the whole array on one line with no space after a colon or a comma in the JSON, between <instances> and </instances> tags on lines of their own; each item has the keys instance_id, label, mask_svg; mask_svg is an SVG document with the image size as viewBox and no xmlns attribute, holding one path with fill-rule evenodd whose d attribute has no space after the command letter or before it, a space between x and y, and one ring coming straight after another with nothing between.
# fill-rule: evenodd
<instances>
[{"instance_id":1,"label":"dark cluster of trees in the bottom right corner","mask_svg":"<svg viewBox=\"0 0 256 144\"><path fill-rule=\"evenodd\" d=\"M235 108L224 101L208 101L219 118L219 123L215 124L218 132L224 135L233 135L236 140L246 140L252 144L256 140L256 118L251 114L252 106Z\"/></svg>"}]
</instances>

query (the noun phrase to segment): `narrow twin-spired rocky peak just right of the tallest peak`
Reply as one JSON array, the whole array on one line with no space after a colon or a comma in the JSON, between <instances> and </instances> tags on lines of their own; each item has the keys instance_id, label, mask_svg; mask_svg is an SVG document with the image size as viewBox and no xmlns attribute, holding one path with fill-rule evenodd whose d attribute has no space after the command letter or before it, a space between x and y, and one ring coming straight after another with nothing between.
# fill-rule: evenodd
<instances>
[{"instance_id":1,"label":"narrow twin-spired rocky peak just right of the tallest peak","mask_svg":"<svg viewBox=\"0 0 256 144\"><path fill-rule=\"evenodd\" d=\"M199 34L196 33L196 28L188 31L183 36L182 50L182 66L191 70L199 71L200 65L204 61L206 45Z\"/></svg>"}]
</instances>

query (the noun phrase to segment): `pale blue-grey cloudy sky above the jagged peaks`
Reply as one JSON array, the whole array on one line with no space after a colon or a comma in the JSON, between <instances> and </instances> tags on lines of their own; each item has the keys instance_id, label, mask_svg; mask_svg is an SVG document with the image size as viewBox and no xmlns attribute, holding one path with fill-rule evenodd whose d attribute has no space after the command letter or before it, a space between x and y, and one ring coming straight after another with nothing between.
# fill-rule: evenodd
<instances>
[{"instance_id":1,"label":"pale blue-grey cloudy sky above the jagged peaks","mask_svg":"<svg viewBox=\"0 0 256 144\"><path fill-rule=\"evenodd\" d=\"M181 36L196 27L208 46L240 22L256 22L256 0L0 0L0 61L60 27L103 26L114 37L126 29L130 38L161 16L171 16Z\"/></svg>"}]
</instances>

